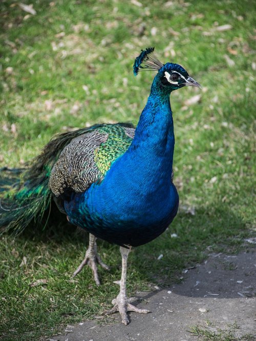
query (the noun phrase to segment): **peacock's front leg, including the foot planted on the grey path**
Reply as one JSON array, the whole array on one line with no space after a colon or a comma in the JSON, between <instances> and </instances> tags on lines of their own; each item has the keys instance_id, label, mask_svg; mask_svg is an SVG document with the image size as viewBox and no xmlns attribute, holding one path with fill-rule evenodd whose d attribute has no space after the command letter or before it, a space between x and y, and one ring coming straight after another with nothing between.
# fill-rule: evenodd
<instances>
[{"instance_id":1,"label":"peacock's front leg, including the foot planted on the grey path","mask_svg":"<svg viewBox=\"0 0 256 341\"><path fill-rule=\"evenodd\" d=\"M127 311L135 311L139 313L146 314L150 312L150 310L147 309L139 309L132 305L130 302L134 301L134 299L127 299L126 296L126 272L127 272L127 259L130 252L130 248L125 248L120 246L120 253L122 255L122 275L121 275L121 281L120 281L120 291L117 295L117 298L112 301L112 304L114 304L114 307L111 310L105 311L105 315L110 315L114 312L119 311L121 317L122 317L122 323L127 326L129 324L129 319L127 316Z\"/></svg>"}]
</instances>

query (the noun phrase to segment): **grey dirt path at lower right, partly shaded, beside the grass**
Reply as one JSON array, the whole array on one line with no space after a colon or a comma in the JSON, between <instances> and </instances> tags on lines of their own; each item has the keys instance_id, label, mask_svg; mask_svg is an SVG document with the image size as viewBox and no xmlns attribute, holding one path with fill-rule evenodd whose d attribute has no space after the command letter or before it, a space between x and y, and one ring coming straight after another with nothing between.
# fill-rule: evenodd
<instances>
[{"instance_id":1,"label":"grey dirt path at lower right, partly shaded, beside the grass","mask_svg":"<svg viewBox=\"0 0 256 341\"><path fill-rule=\"evenodd\" d=\"M170 288L142 292L139 307L152 313L130 314L123 326L119 314L67 326L59 341L234 341L256 338L256 253L212 254L183 271L183 281Z\"/></svg>"}]
</instances>

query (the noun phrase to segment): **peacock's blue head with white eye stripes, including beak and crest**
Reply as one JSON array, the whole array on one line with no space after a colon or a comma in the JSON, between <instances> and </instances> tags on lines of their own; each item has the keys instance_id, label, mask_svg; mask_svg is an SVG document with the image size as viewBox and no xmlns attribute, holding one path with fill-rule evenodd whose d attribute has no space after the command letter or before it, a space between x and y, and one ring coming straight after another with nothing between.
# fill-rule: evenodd
<instances>
[{"instance_id":1,"label":"peacock's blue head with white eye stripes, including beak and crest","mask_svg":"<svg viewBox=\"0 0 256 341\"><path fill-rule=\"evenodd\" d=\"M139 71L158 71L153 87L160 88L166 93L180 89L183 86L201 87L181 65L174 63L162 64L154 55L154 49L153 47L141 50L140 55L134 61L133 72L135 76Z\"/></svg>"}]
</instances>

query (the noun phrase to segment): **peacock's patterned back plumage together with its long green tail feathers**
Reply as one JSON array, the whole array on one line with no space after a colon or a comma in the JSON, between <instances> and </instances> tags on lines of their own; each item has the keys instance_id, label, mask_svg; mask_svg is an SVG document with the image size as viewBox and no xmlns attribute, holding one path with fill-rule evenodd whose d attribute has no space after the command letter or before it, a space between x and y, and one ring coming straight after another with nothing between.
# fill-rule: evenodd
<instances>
[{"instance_id":1,"label":"peacock's patterned back plumage together with its long green tail feathers","mask_svg":"<svg viewBox=\"0 0 256 341\"><path fill-rule=\"evenodd\" d=\"M50 214L50 211L56 209L52 202L52 192L54 193L57 185L61 190L54 193L54 201L59 210L65 213L62 210L62 199L68 192L67 181L68 186L73 183L77 184L78 192L83 191L92 182L100 181L113 161L129 147L134 130L131 124L97 124L58 134L25 168L0 169L1 232L11 230L14 234L19 234L32 220L37 225L47 210ZM95 139L102 136L103 140L99 139L95 144ZM84 140L88 140L87 146L80 143ZM87 153L88 149L91 149L92 153L89 157L81 158L81 155L84 155L84 149ZM64 155L67 156L67 150L72 156L74 152L76 153L76 164L71 167L73 173L69 172L70 175L63 180L63 174L58 166L61 165L62 171L70 167L67 160L63 160L63 151L66 151ZM61 162L66 165L62 165ZM53 171L54 167L58 169L58 172Z\"/></svg>"}]
</instances>

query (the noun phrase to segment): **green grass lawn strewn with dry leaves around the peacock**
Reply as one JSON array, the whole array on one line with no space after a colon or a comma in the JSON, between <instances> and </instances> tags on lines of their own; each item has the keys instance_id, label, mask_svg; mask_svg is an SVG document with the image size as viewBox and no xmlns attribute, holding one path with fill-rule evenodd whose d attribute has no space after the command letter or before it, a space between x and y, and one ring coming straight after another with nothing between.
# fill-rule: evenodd
<instances>
[{"instance_id":1,"label":"green grass lawn strewn with dry leaves around the peacock","mask_svg":"<svg viewBox=\"0 0 256 341\"><path fill-rule=\"evenodd\" d=\"M0 5L0 166L22 166L53 134L70 127L136 124L154 75L134 78L133 60L140 49L155 46L162 62L180 63L203 86L201 92L184 88L171 96L175 183L181 206L195 208L195 215L183 210L164 235L134 250L128 291L179 280L179 271L200 262L207 249L244 247L245 237L255 232L253 3L23 3L33 3L36 15L12 1ZM198 103L186 104L198 94ZM72 281L88 239L59 225L56 219L48 231L32 226L14 240L3 237L2 339L50 336L111 306L118 292L113 281L120 276L118 247L99 242L112 266L109 273L100 269L100 288L90 270ZM30 286L42 279L47 283Z\"/></svg>"}]
</instances>

